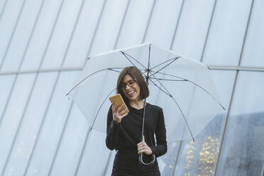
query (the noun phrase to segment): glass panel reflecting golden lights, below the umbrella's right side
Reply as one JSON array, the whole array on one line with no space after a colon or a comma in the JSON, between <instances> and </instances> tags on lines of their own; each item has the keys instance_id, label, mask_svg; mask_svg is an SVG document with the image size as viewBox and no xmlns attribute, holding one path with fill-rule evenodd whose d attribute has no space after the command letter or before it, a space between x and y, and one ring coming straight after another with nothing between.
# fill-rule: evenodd
<instances>
[{"instance_id":1,"label":"glass panel reflecting golden lights, below the umbrella's right side","mask_svg":"<svg viewBox=\"0 0 264 176\"><path fill-rule=\"evenodd\" d=\"M182 143L175 175L214 175L226 114L216 116L196 141Z\"/></svg>"}]
</instances>

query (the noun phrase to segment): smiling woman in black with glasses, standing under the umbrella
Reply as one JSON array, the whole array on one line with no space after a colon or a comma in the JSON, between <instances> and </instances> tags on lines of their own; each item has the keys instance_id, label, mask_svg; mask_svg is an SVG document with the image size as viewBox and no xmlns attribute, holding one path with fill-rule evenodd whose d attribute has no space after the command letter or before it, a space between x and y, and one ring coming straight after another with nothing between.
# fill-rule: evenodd
<instances>
[{"instance_id":1,"label":"smiling woman in black with glasses, standing under the umbrella","mask_svg":"<svg viewBox=\"0 0 264 176\"><path fill-rule=\"evenodd\" d=\"M129 113L125 114L126 109L121 111L123 105L113 104L107 115L106 146L117 151L111 175L160 175L157 160L153 165L143 165L138 155L144 153L144 161L150 162L152 155L158 158L167 152L163 109L146 104L145 140L141 142L144 99L149 95L141 71L136 67L124 68L117 80L116 93L123 97Z\"/></svg>"}]
</instances>

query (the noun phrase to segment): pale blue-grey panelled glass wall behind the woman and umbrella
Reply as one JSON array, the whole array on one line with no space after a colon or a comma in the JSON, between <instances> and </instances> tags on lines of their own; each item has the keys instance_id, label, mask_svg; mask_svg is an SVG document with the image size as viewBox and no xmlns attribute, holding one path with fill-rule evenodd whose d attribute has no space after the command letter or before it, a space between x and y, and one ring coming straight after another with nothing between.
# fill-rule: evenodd
<instances>
[{"instance_id":1,"label":"pale blue-grey panelled glass wall behind the woman and umbrella","mask_svg":"<svg viewBox=\"0 0 264 176\"><path fill-rule=\"evenodd\" d=\"M163 175L261 175L264 1L0 0L0 175L110 175L114 151L65 97L85 59L152 42L211 67L226 114L169 143Z\"/></svg>"}]
</instances>

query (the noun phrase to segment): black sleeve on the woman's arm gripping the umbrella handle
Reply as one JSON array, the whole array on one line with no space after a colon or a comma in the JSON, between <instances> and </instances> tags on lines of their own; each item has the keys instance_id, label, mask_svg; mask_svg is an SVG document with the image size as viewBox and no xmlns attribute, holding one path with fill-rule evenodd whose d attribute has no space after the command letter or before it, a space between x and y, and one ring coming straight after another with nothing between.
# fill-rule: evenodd
<instances>
[{"instance_id":1,"label":"black sleeve on the woman's arm gripping the umbrella handle","mask_svg":"<svg viewBox=\"0 0 264 176\"><path fill-rule=\"evenodd\" d=\"M166 128L163 116L163 109L160 109L160 115L157 121L157 128L155 131L157 145L150 147L153 155L159 157L167 152Z\"/></svg>"}]
</instances>

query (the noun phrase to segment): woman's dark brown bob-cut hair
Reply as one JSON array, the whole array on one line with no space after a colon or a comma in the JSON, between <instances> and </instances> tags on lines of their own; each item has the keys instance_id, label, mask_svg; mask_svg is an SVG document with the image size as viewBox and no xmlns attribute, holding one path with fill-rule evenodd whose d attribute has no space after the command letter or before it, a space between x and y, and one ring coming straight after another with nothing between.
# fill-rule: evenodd
<instances>
[{"instance_id":1,"label":"woman's dark brown bob-cut hair","mask_svg":"<svg viewBox=\"0 0 264 176\"><path fill-rule=\"evenodd\" d=\"M145 80L141 74L141 70L138 70L138 68L134 66L125 67L120 72L116 84L116 94L121 94L123 100L128 102L128 98L123 94L121 89L121 84L123 83L123 77L125 77L125 75L130 75L133 79L136 79L136 83L138 84L138 87L140 89L140 99L145 99L149 96L150 92L148 89L148 85L145 83Z\"/></svg>"}]
</instances>

